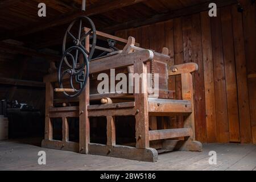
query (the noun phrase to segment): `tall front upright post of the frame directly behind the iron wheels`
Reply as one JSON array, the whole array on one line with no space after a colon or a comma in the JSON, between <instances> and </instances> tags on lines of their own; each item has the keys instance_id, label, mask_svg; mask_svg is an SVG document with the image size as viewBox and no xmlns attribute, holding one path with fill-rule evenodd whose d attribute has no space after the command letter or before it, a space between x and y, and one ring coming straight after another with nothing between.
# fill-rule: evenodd
<instances>
[{"instance_id":1,"label":"tall front upright post of the frame directly behind the iron wheels","mask_svg":"<svg viewBox=\"0 0 256 182\"><path fill-rule=\"evenodd\" d=\"M89 52L90 42L85 39L85 49ZM84 92L79 98L79 151L88 154L88 144L90 143L90 121L88 117L88 105L90 104L90 78L88 78Z\"/></svg>"}]
</instances>

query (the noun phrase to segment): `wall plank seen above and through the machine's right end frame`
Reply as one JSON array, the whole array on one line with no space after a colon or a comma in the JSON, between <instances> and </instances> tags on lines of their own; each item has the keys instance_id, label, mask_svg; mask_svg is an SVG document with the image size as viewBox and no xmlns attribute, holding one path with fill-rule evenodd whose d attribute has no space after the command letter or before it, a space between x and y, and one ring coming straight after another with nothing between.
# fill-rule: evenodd
<instances>
[{"instance_id":1,"label":"wall plank seen above and through the machine's right end frame","mask_svg":"<svg viewBox=\"0 0 256 182\"><path fill-rule=\"evenodd\" d=\"M181 18L174 19L174 59L175 64L183 64L183 35ZM175 76L176 99L182 98L181 76ZM183 117L177 117L177 127L183 127Z\"/></svg>"}]
</instances>

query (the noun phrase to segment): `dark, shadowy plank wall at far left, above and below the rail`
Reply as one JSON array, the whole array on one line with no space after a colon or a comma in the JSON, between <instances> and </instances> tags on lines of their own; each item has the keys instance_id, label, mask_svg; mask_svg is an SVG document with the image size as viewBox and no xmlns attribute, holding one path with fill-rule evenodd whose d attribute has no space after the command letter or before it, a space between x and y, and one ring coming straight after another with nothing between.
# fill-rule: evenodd
<instances>
[{"instance_id":1,"label":"dark, shadowy plank wall at far left, above and below the rail","mask_svg":"<svg viewBox=\"0 0 256 182\"><path fill-rule=\"evenodd\" d=\"M27 59L22 55L14 55L0 50L0 77L42 82L48 67L49 64L44 60ZM0 100L17 100L44 111L45 90L0 84Z\"/></svg>"}]
</instances>

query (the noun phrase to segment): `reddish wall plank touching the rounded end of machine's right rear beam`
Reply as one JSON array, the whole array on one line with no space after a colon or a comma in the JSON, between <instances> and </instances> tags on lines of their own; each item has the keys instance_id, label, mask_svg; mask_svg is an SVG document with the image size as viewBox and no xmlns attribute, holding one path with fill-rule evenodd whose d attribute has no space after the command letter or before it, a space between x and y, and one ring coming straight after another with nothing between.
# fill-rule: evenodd
<instances>
[{"instance_id":1,"label":"reddish wall plank touching the rounded end of machine's right rear beam","mask_svg":"<svg viewBox=\"0 0 256 182\"><path fill-rule=\"evenodd\" d=\"M207 126L205 118L205 94L204 94L204 63L201 42L200 14L192 15L192 61L199 66L193 73L195 89L195 126L196 137L201 142L207 142Z\"/></svg>"}]
</instances>

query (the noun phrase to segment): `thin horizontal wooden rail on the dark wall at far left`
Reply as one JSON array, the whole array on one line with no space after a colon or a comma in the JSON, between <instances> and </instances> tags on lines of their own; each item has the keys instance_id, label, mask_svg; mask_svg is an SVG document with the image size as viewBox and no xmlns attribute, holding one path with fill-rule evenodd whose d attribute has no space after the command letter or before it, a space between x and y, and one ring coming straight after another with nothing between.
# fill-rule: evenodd
<instances>
[{"instance_id":1,"label":"thin horizontal wooden rail on the dark wall at far left","mask_svg":"<svg viewBox=\"0 0 256 182\"><path fill-rule=\"evenodd\" d=\"M0 84L31 86L31 87L38 87L38 88L45 88L46 87L44 82L30 81L30 80L20 80L20 79L5 78L5 77L0 77Z\"/></svg>"}]
</instances>

